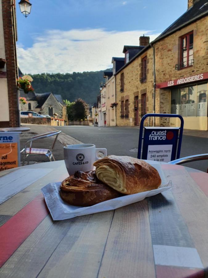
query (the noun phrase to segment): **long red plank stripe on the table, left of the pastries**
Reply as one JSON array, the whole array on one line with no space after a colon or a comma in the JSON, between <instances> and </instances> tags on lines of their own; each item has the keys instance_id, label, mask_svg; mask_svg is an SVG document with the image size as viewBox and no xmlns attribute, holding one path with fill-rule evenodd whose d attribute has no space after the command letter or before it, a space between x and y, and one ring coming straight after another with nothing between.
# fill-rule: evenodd
<instances>
[{"instance_id":1,"label":"long red plank stripe on the table, left of the pastries","mask_svg":"<svg viewBox=\"0 0 208 278\"><path fill-rule=\"evenodd\" d=\"M48 213L44 197L40 194L0 227L0 267Z\"/></svg>"}]
</instances>

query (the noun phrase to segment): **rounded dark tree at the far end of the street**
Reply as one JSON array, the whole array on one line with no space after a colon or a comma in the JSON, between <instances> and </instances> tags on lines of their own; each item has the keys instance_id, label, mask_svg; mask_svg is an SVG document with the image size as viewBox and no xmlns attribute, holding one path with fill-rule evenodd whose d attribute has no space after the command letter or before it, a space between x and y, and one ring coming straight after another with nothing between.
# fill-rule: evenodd
<instances>
[{"instance_id":1,"label":"rounded dark tree at the far end of the street","mask_svg":"<svg viewBox=\"0 0 208 278\"><path fill-rule=\"evenodd\" d=\"M89 115L89 106L83 99L76 99L72 106L72 115L75 121L84 120Z\"/></svg>"}]
</instances>

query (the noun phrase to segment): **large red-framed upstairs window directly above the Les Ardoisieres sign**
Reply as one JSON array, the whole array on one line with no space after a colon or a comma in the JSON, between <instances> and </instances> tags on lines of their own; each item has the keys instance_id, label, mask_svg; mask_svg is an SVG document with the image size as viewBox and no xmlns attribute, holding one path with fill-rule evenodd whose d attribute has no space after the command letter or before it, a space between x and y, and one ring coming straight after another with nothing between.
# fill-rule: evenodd
<instances>
[{"instance_id":1,"label":"large red-framed upstairs window directly above the Les Ardoisieres sign","mask_svg":"<svg viewBox=\"0 0 208 278\"><path fill-rule=\"evenodd\" d=\"M193 65L193 31L181 37L181 61L180 68L185 68Z\"/></svg>"}]
</instances>

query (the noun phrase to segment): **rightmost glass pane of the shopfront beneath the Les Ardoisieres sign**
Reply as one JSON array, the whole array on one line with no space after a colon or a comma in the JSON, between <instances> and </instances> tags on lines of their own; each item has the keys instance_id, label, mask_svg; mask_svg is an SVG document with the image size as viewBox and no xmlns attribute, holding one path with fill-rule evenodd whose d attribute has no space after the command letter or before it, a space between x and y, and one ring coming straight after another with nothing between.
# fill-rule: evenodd
<instances>
[{"instance_id":1,"label":"rightmost glass pane of the shopfront beneath the Les Ardoisieres sign","mask_svg":"<svg viewBox=\"0 0 208 278\"><path fill-rule=\"evenodd\" d=\"M197 86L197 116L207 116L207 83Z\"/></svg>"}]
</instances>

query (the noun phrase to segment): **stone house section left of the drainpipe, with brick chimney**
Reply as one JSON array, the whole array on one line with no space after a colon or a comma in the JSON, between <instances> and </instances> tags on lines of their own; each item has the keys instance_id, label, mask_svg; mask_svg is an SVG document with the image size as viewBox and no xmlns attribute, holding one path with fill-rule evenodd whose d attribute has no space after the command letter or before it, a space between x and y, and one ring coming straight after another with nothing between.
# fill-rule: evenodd
<instances>
[{"instance_id":1,"label":"stone house section left of the drainpipe, with brick chimney","mask_svg":"<svg viewBox=\"0 0 208 278\"><path fill-rule=\"evenodd\" d=\"M145 47L145 44L147 45ZM140 37L137 54L128 60L125 51L125 65L117 71L116 77L116 125L139 125L141 117L152 112L150 94L153 89L153 49L148 47L149 37ZM133 46L131 48L134 48ZM151 82L148 82L150 81ZM149 101L148 106L146 102Z\"/></svg>"}]
</instances>

